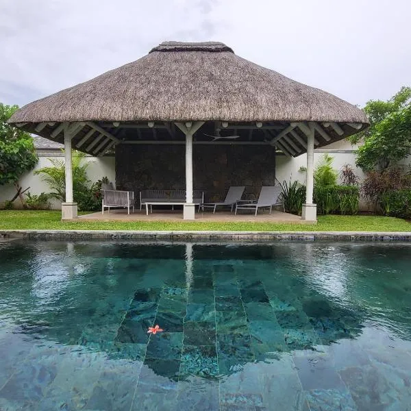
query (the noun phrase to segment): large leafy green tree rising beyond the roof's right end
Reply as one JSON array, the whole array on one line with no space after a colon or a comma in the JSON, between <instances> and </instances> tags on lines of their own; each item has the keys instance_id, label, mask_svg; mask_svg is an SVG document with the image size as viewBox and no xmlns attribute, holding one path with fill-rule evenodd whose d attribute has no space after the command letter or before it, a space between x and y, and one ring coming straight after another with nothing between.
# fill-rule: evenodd
<instances>
[{"instance_id":1,"label":"large leafy green tree rising beyond the roof's right end","mask_svg":"<svg viewBox=\"0 0 411 411\"><path fill-rule=\"evenodd\" d=\"M356 164L364 171L384 170L406 158L411 147L411 87L402 87L388 101L370 100L364 111L369 129L349 138L353 144L364 140Z\"/></svg>"}]
</instances>

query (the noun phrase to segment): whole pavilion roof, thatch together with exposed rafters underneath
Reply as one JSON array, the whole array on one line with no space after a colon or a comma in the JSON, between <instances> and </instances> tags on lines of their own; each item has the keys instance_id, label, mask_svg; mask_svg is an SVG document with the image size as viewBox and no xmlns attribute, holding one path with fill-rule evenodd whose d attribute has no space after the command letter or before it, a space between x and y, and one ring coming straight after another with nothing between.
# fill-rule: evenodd
<instances>
[{"instance_id":1,"label":"whole pavilion roof, thatch together with exposed rafters underneath","mask_svg":"<svg viewBox=\"0 0 411 411\"><path fill-rule=\"evenodd\" d=\"M369 125L355 105L221 42L163 42L135 62L25 105L10 123L92 155L119 144L187 144L201 127L194 144L271 145L296 156L310 153L310 138L314 149Z\"/></svg>"}]
</instances>

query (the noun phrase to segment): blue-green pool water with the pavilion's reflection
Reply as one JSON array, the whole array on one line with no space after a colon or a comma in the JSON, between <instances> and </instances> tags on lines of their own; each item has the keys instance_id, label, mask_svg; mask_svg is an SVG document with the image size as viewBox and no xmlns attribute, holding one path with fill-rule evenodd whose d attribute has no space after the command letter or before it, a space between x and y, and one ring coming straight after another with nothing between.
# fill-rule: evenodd
<instances>
[{"instance_id":1,"label":"blue-green pool water with the pavilion's reflection","mask_svg":"<svg viewBox=\"0 0 411 411\"><path fill-rule=\"evenodd\" d=\"M0 410L411 410L410 251L0 243Z\"/></svg>"}]
</instances>

